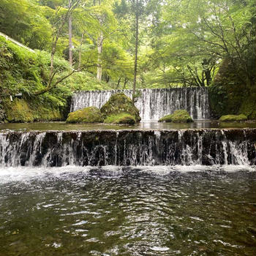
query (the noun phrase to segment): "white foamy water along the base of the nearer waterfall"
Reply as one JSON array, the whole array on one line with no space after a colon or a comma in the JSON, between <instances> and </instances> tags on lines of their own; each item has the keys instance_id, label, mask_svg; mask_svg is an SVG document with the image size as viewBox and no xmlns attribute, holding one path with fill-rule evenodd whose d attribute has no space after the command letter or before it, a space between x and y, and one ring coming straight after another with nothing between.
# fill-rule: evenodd
<instances>
[{"instance_id":1,"label":"white foamy water along the base of the nearer waterfall","mask_svg":"<svg viewBox=\"0 0 256 256\"><path fill-rule=\"evenodd\" d=\"M135 171L138 173L148 173L153 176L167 176L170 173L196 173L196 172L255 172L256 166L250 165L175 165L175 166L136 166L136 167L122 167L122 166L104 166L104 167L78 167L78 166L66 166L66 167L1 167L0 168L0 184L7 184L10 182L29 182L32 180L43 181L48 178L60 178L69 179L77 174L90 175L90 171L94 176L97 173L103 178L119 178L124 173L129 171Z\"/></svg>"}]
</instances>

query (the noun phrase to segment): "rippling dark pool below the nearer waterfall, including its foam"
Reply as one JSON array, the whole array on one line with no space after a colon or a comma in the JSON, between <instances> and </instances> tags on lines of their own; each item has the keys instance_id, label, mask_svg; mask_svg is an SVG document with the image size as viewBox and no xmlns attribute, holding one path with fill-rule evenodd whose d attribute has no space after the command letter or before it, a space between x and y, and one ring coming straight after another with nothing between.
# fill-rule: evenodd
<instances>
[{"instance_id":1,"label":"rippling dark pool below the nearer waterfall, including its foam","mask_svg":"<svg viewBox=\"0 0 256 256\"><path fill-rule=\"evenodd\" d=\"M1 169L0 255L255 255L256 172L233 168Z\"/></svg>"}]
</instances>

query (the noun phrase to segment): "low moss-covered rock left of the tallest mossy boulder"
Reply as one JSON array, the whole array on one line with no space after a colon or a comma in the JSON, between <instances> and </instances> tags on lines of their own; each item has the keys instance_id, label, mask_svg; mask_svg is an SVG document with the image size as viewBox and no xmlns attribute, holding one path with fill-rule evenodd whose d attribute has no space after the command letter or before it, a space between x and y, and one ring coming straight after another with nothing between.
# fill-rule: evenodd
<instances>
[{"instance_id":1,"label":"low moss-covered rock left of the tallest mossy boulder","mask_svg":"<svg viewBox=\"0 0 256 256\"><path fill-rule=\"evenodd\" d=\"M103 117L99 108L88 107L69 113L67 123L102 123Z\"/></svg>"}]
</instances>

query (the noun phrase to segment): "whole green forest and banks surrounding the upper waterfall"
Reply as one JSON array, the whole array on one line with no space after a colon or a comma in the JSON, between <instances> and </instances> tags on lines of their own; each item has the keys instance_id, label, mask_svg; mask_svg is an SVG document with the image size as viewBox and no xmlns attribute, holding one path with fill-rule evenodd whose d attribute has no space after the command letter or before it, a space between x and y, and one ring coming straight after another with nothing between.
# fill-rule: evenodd
<instances>
[{"instance_id":1,"label":"whole green forest and banks surrounding the upper waterfall","mask_svg":"<svg viewBox=\"0 0 256 256\"><path fill-rule=\"evenodd\" d=\"M61 120L78 90L190 86L209 88L215 117L255 119L255 5L1 0L0 119Z\"/></svg>"}]
</instances>

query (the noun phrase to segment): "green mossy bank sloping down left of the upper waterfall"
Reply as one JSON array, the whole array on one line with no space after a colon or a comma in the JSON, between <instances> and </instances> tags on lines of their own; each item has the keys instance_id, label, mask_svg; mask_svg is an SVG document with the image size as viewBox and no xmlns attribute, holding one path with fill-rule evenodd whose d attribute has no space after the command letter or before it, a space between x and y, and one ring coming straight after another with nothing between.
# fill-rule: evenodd
<instances>
[{"instance_id":1,"label":"green mossy bank sloping down left of the upper waterfall","mask_svg":"<svg viewBox=\"0 0 256 256\"><path fill-rule=\"evenodd\" d=\"M0 36L0 121L65 120L74 91L111 89L89 72L78 72L51 91L37 95L47 86L49 70L50 53L31 52ZM54 58L54 80L63 78L70 70L66 60Z\"/></svg>"}]
</instances>

